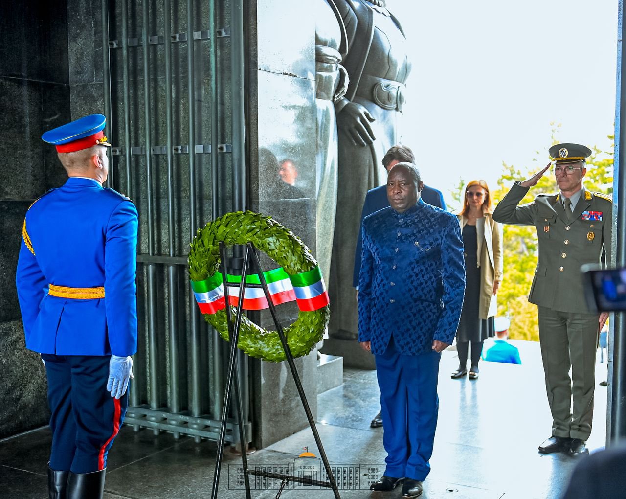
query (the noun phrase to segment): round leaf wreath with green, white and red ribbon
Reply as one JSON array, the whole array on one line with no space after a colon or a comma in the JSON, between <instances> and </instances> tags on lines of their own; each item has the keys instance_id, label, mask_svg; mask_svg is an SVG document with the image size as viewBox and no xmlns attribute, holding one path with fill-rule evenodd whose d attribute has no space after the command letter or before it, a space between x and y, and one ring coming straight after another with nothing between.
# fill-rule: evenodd
<instances>
[{"instance_id":1,"label":"round leaf wreath with green, white and red ribbon","mask_svg":"<svg viewBox=\"0 0 626 499\"><path fill-rule=\"evenodd\" d=\"M330 315L329 298L322 274L309 248L293 232L271 217L253 212L226 213L209 222L192 240L189 252L189 277L195 299L205 321L226 341L229 340L220 241L227 247L252 242L273 259L280 268L264 272L274 305L297 302L297 320L284 328L287 344L294 357L308 354L324 336ZM239 302L240 275L228 275L230 306ZM246 282L259 284L259 275L247 275ZM262 289L247 287L244 310L268 308ZM249 356L269 362L285 360L285 351L277 331L268 331L242 314L237 346Z\"/></svg>"}]
</instances>

